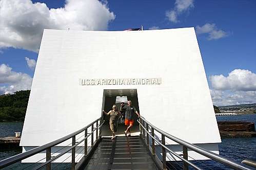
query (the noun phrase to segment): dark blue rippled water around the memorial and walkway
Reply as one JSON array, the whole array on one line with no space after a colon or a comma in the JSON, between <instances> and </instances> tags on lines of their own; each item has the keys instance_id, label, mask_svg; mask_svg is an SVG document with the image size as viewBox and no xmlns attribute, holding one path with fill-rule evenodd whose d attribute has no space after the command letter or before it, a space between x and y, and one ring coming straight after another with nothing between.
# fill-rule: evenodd
<instances>
[{"instance_id":1,"label":"dark blue rippled water around the memorial and walkway","mask_svg":"<svg viewBox=\"0 0 256 170\"><path fill-rule=\"evenodd\" d=\"M217 116L217 121L243 121L243 122L253 122L256 124L256 114L246 114L239 116ZM14 132L22 132L23 122L5 122L0 123L0 138L15 136ZM239 138L225 138L219 144L220 155L227 157L231 160L241 162L244 159L250 159L256 161L256 137L239 137ZM9 158L11 156L21 153L22 150L0 150L0 160ZM214 161L201 161L201 163L206 164L208 168L202 167L203 169L231 169ZM195 163L199 165L199 163ZM22 164L17 162L11 166L3 169L24 169L31 164ZM52 168L57 164L53 164ZM35 165L31 165L26 169L31 169ZM176 169L181 169L179 166L174 165ZM171 166L170 169L174 169ZM71 169L69 165L58 165L55 169ZM192 168L190 168L192 169Z\"/></svg>"}]
</instances>

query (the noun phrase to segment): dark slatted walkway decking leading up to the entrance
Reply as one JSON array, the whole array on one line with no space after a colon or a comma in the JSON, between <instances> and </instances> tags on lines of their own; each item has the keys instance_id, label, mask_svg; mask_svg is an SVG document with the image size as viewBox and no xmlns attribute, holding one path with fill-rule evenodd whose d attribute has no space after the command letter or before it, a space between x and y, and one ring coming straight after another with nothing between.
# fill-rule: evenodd
<instances>
[{"instance_id":1,"label":"dark slatted walkway decking leading up to the entrance","mask_svg":"<svg viewBox=\"0 0 256 170\"><path fill-rule=\"evenodd\" d=\"M103 137L84 169L157 169L140 136Z\"/></svg>"}]
</instances>

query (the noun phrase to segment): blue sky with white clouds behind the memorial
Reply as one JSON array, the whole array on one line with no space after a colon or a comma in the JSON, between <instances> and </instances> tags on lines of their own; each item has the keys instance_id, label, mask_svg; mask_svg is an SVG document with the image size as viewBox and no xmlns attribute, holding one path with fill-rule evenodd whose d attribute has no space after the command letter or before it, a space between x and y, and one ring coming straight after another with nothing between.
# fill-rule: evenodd
<instances>
[{"instance_id":1,"label":"blue sky with white clouds behind the memorial","mask_svg":"<svg viewBox=\"0 0 256 170\"><path fill-rule=\"evenodd\" d=\"M194 27L216 106L256 103L254 0L1 0L0 95L30 89L43 29Z\"/></svg>"}]
</instances>

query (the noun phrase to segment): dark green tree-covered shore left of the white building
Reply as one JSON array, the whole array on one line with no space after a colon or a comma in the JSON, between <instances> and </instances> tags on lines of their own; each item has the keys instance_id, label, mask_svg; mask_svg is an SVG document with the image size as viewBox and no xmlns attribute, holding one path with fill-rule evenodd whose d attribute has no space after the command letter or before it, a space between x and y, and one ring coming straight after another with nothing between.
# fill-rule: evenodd
<instances>
[{"instance_id":1,"label":"dark green tree-covered shore left of the white building","mask_svg":"<svg viewBox=\"0 0 256 170\"><path fill-rule=\"evenodd\" d=\"M0 95L0 122L24 121L30 90Z\"/></svg>"}]
</instances>

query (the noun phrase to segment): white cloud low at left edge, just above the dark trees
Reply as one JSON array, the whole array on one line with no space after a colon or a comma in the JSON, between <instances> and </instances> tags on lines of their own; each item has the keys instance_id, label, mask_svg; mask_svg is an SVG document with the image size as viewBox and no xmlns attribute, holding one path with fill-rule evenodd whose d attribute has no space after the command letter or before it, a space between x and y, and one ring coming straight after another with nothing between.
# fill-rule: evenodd
<instances>
[{"instance_id":1,"label":"white cloud low at left edge, just above the dark trees","mask_svg":"<svg viewBox=\"0 0 256 170\"><path fill-rule=\"evenodd\" d=\"M20 90L29 90L32 85L32 78L21 72L12 71L8 65L0 65L0 95L14 93Z\"/></svg>"}]
</instances>

